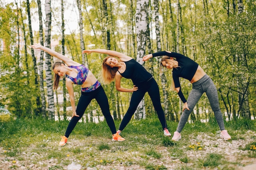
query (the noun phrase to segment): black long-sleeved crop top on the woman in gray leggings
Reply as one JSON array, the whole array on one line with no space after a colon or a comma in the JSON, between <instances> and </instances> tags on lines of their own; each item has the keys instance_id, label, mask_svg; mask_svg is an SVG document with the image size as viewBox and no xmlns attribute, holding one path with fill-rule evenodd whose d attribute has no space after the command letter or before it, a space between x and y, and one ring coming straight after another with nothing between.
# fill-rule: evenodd
<instances>
[{"instance_id":1,"label":"black long-sleeved crop top on the woman in gray leggings","mask_svg":"<svg viewBox=\"0 0 256 170\"><path fill-rule=\"evenodd\" d=\"M176 58L176 61L178 62L179 67L173 68L173 82L174 82L175 88L180 87L179 77L182 77L184 79L188 79L189 81L191 81L191 79L195 75L195 72L198 69L198 63L196 63L195 61L191 60L189 57L186 57L180 53L175 53L175 52L168 53L166 51L161 51L161 52L153 53L152 55L153 57L166 55L168 57ZM182 94L181 88L180 88L180 91L178 92L178 95L182 99L182 102L185 103L186 99Z\"/></svg>"}]
</instances>

